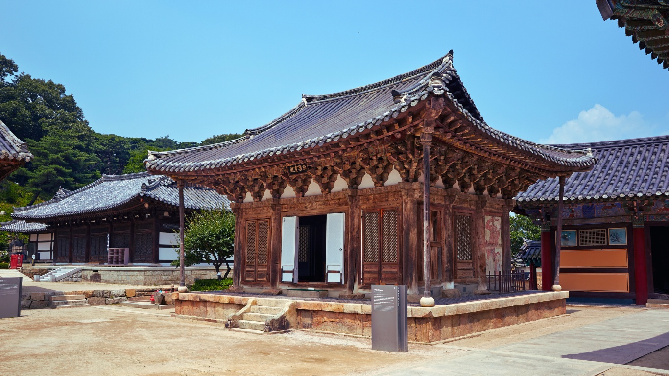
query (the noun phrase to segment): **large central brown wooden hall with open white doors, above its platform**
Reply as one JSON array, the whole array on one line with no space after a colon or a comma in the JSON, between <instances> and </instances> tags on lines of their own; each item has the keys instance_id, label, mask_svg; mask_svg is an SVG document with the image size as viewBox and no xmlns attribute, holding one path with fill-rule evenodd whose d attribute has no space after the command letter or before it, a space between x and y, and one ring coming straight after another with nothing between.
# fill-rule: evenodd
<instances>
[{"instance_id":1,"label":"large central brown wooden hall with open white doors, above its platform","mask_svg":"<svg viewBox=\"0 0 669 376\"><path fill-rule=\"evenodd\" d=\"M404 284L429 299L456 286L485 293L486 271L510 268L513 197L595 162L488 126L449 52L375 84L303 95L236 140L149 152L145 165L233 201L235 290Z\"/></svg>"}]
</instances>

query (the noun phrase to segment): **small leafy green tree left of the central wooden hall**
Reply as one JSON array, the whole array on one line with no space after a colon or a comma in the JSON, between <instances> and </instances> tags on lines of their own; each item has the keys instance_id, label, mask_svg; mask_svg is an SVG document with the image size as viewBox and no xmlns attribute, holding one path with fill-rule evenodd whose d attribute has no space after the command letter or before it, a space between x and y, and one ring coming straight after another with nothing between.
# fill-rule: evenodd
<instances>
[{"instance_id":1,"label":"small leafy green tree left of the central wooden hall","mask_svg":"<svg viewBox=\"0 0 669 376\"><path fill-rule=\"evenodd\" d=\"M227 278L230 272L227 260L234 253L235 215L227 210L203 210L188 217L185 227L185 266L211 264L221 280L220 268L225 264L227 270L223 278ZM179 260L172 265L179 266Z\"/></svg>"}]
</instances>

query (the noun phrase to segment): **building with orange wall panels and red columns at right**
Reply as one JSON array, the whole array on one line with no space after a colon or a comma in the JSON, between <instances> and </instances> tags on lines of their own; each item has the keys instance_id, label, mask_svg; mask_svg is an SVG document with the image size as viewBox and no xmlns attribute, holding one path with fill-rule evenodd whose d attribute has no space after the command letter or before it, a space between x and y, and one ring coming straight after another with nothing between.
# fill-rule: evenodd
<instances>
[{"instance_id":1,"label":"building with orange wall panels and red columns at right","mask_svg":"<svg viewBox=\"0 0 669 376\"><path fill-rule=\"evenodd\" d=\"M570 296L669 299L669 136L601 143L591 171L565 183L559 281ZM542 285L555 277L557 179L516 196L516 213L541 225ZM536 259L535 256L532 258Z\"/></svg>"}]
</instances>

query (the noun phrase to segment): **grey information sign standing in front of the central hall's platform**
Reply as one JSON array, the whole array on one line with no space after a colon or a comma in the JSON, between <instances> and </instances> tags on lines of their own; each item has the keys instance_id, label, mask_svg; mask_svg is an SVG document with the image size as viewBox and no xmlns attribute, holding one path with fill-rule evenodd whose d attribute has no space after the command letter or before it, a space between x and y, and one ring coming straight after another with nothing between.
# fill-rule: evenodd
<instances>
[{"instance_id":1,"label":"grey information sign standing in front of the central hall's platform","mask_svg":"<svg viewBox=\"0 0 669 376\"><path fill-rule=\"evenodd\" d=\"M372 350L409 351L407 286L372 285Z\"/></svg>"}]
</instances>

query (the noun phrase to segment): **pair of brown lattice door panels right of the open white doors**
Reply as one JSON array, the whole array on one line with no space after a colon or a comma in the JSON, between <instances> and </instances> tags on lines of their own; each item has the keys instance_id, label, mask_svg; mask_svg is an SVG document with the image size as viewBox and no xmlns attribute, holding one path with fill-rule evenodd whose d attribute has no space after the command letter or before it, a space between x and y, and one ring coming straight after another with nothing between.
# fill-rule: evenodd
<instances>
[{"instance_id":1,"label":"pair of brown lattice door panels right of the open white doors","mask_svg":"<svg viewBox=\"0 0 669 376\"><path fill-rule=\"evenodd\" d=\"M399 218L396 209L363 213L363 284L397 284Z\"/></svg>"}]
</instances>

